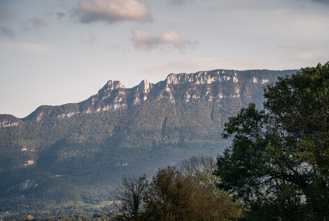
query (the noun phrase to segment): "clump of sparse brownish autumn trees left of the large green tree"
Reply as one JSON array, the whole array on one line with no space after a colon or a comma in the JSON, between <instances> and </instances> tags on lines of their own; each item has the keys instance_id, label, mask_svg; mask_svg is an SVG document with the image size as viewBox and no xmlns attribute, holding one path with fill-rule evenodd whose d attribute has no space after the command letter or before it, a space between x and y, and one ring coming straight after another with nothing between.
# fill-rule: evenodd
<instances>
[{"instance_id":1,"label":"clump of sparse brownish autumn trees left of the large green tree","mask_svg":"<svg viewBox=\"0 0 329 221\"><path fill-rule=\"evenodd\" d=\"M119 185L114 210L118 221L195 220L225 221L239 217L239 204L215 187L212 157L191 157L180 168L159 168L151 182L145 175L124 177Z\"/></svg>"}]
</instances>

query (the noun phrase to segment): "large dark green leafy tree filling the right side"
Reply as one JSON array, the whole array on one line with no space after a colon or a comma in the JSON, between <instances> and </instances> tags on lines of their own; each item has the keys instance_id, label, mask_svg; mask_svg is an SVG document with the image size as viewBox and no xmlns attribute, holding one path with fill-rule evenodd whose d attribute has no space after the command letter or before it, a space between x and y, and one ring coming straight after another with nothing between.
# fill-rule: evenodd
<instances>
[{"instance_id":1,"label":"large dark green leafy tree filling the right side","mask_svg":"<svg viewBox=\"0 0 329 221\"><path fill-rule=\"evenodd\" d=\"M329 62L267 85L255 104L225 123L234 137L217 158L219 188L241 199L246 219L324 220L329 216Z\"/></svg>"}]
</instances>

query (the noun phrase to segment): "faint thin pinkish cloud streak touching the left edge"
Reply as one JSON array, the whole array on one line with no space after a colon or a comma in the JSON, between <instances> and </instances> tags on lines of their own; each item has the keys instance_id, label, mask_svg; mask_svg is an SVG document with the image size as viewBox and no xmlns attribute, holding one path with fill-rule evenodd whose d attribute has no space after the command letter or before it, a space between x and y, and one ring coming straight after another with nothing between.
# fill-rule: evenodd
<instances>
[{"instance_id":1,"label":"faint thin pinkish cloud streak touching the left edge","mask_svg":"<svg viewBox=\"0 0 329 221\"><path fill-rule=\"evenodd\" d=\"M0 48L18 52L49 52L53 49L50 45L27 42L0 42Z\"/></svg>"}]
</instances>

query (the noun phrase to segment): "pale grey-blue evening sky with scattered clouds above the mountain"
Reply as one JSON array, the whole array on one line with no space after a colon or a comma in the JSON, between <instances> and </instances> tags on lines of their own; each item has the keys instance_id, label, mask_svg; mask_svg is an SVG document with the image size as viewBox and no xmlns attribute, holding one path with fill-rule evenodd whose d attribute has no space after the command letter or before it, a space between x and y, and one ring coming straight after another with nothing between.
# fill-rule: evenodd
<instances>
[{"instance_id":1,"label":"pale grey-blue evening sky with scattered clouds above the mountain","mask_svg":"<svg viewBox=\"0 0 329 221\"><path fill-rule=\"evenodd\" d=\"M329 61L329 0L0 0L0 114L170 73Z\"/></svg>"}]
</instances>

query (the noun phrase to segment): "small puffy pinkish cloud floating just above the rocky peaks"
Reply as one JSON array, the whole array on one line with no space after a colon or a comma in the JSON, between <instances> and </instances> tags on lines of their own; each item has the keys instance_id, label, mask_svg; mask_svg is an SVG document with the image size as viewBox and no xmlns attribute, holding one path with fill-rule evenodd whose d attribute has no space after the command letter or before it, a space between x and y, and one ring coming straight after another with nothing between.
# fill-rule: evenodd
<instances>
[{"instance_id":1,"label":"small puffy pinkish cloud floating just above the rocky peaks","mask_svg":"<svg viewBox=\"0 0 329 221\"><path fill-rule=\"evenodd\" d=\"M132 42L135 48L150 51L151 49L161 48L165 45L177 48L179 51L184 51L188 46L194 48L197 41L191 42L189 39L182 37L172 30L167 30L160 35L148 33L138 28L132 31Z\"/></svg>"}]
</instances>

